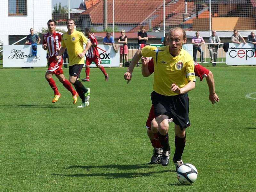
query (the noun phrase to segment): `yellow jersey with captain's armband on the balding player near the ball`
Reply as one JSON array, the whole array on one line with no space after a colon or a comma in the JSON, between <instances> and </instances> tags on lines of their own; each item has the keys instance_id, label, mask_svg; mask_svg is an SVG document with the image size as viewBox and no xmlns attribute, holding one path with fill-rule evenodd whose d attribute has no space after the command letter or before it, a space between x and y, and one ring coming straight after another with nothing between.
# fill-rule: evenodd
<instances>
[{"instance_id":1,"label":"yellow jersey with captain's armband on the balding player near the ball","mask_svg":"<svg viewBox=\"0 0 256 192\"><path fill-rule=\"evenodd\" d=\"M154 60L153 89L161 95L178 95L171 91L173 83L182 88L189 81L196 81L193 58L182 48L180 54L175 57L169 52L169 45L146 46L141 50L141 54L144 57L152 57Z\"/></svg>"}]
</instances>

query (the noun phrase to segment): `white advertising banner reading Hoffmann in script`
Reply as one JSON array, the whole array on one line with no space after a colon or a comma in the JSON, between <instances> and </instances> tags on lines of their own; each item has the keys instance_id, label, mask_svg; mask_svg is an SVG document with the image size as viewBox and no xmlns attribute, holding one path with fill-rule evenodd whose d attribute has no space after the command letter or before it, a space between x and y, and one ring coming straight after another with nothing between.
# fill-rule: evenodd
<instances>
[{"instance_id":1,"label":"white advertising banner reading Hoffmann in script","mask_svg":"<svg viewBox=\"0 0 256 192\"><path fill-rule=\"evenodd\" d=\"M37 45L36 55L32 55L31 45L3 45L3 67L45 67L46 51Z\"/></svg>"}]
</instances>

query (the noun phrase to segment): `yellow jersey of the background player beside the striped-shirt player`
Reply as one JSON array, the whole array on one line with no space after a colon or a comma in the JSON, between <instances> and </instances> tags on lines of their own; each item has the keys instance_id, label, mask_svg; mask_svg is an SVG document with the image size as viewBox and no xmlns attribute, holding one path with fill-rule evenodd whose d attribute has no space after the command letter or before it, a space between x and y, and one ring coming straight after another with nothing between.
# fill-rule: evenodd
<instances>
[{"instance_id":1,"label":"yellow jersey of the background player beside the striped-shirt player","mask_svg":"<svg viewBox=\"0 0 256 192\"><path fill-rule=\"evenodd\" d=\"M69 65L84 64L84 58L79 58L77 55L84 51L84 44L87 44L88 39L82 32L74 30L71 35L65 33L61 36L61 47L67 48Z\"/></svg>"}]
</instances>

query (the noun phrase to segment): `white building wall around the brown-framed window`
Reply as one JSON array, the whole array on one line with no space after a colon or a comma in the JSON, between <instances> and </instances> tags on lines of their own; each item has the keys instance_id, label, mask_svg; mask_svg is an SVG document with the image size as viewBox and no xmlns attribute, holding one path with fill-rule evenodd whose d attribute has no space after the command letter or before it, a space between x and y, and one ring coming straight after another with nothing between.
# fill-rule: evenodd
<instances>
[{"instance_id":1,"label":"white building wall around the brown-framed window","mask_svg":"<svg viewBox=\"0 0 256 192\"><path fill-rule=\"evenodd\" d=\"M41 32L52 19L52 0L27 0L27 16L8 16L8 0L1 0L0 41L8 44L9 35L28 35L29 29Z\"/></svg>"}]
</instances>

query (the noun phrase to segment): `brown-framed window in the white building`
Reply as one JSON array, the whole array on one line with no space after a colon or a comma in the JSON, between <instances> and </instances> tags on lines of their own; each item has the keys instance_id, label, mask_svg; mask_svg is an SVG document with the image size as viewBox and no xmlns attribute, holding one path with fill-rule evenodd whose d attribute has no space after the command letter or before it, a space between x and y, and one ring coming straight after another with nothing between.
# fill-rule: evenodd
<instances>
[{"instance_id":1,"label":"brown-framed window in the white building","mask_svg":"<svg viewBox=\"0 0 256 192\"><path fill-rule=\"evenodd\" d=\"M8 11L9 16L27 15L27 0L8 0Z\"/></svg>"}]
</instances>

